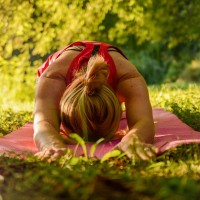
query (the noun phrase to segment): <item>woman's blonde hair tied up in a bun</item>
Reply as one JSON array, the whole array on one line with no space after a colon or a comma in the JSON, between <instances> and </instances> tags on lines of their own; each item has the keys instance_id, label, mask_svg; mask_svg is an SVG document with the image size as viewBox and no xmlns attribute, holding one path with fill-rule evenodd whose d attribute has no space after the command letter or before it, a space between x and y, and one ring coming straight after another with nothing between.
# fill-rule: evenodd
<instances>
[{"instance_id":1,"label":"woman's blonde hair tied up in a bun","mask_svg":"<svg viewBox=\"0 0 200 200\"><path fill-rule=\"evenodd\" d=\"M86 141L109 139L118 128L121 106L107 83L108 65L96 55L84 69L76 73L61 98L61 121Z\"/></svg>"}]
</instances>

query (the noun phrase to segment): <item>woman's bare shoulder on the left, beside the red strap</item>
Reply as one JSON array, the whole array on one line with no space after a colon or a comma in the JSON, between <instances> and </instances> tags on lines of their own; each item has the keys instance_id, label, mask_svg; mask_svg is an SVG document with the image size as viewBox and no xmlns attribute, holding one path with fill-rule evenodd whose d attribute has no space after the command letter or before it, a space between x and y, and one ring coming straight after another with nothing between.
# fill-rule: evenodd
<instances>
[{"instance_id":1,"label":"woman's bare shoulder on the left, beside the red strap","mask_svg":"<svg viewBox=\"0 0 200 200\"><path fill-rule=\"evenodd\" d=\"M68 50L63 52L52 64L44 71L41 77L51 79L66 79L67 71L73 59L80 52Z\"/></svg>"}]
</instances>

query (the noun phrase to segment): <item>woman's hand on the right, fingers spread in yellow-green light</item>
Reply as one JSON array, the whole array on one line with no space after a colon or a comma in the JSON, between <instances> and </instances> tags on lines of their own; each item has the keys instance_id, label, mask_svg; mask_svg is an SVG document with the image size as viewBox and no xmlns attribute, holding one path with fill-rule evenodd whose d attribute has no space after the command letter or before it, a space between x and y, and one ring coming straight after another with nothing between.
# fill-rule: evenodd
<instances>
[{"instance_id":1,"label":"woman's hand on the right, fingers spread in yellow-green light","mask_svg":"<svg viewBox=\"0 0 200 200\"><path fill-rule=\"evenodd\" d=\"M136 159L148 160L158 154L159 150L152 144L142 142L134 133L125 135L117 148L127 154L129 158L136 157Z\"/></svg>"}]
</instances>

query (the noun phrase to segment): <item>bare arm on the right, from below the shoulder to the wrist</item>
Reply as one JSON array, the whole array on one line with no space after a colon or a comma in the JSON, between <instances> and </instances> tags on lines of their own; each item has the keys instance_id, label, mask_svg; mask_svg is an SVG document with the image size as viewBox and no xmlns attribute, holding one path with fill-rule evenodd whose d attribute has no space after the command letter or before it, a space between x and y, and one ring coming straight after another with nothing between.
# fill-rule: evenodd
<instances>
[{"instance_id":1,"label":"bare arm on the right, from below the shoulder to the wrist","mask_svg":"<svg viewBox=\"0 0 200 200\"><path fill-rule=\"evenodd\" d=\"M123 81L118 90L126 105L126 118L129 132L136 134L141 141L154 142L154 121L147 86L142 76Z\"/></svg>"}]
</instances>

